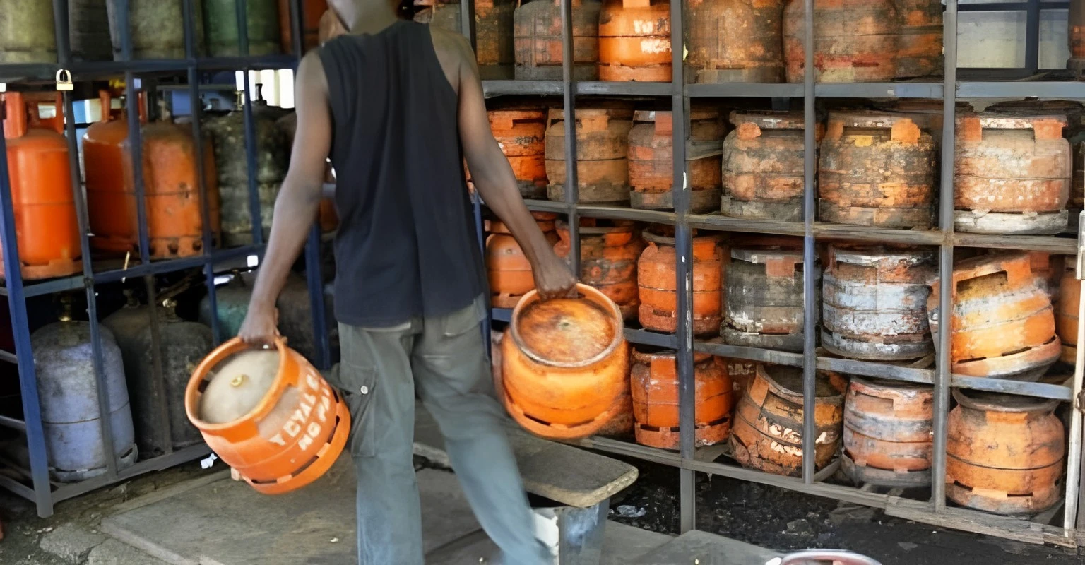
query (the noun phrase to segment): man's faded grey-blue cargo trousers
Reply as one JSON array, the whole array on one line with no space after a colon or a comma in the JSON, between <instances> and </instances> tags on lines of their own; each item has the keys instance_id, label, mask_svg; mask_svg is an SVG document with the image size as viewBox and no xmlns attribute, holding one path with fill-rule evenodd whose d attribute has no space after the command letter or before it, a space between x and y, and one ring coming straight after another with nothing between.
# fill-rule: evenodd
<instances>
[{"instance_id":1,"label":"man's faded grey-blue cargo trousers","mask_svg":"<svg viewBox=\"0 0 1085 565\"><path fill-rule=\"evenodd\" d=\"M493 390L481 304L394 328L340 324L333 383L350 408L358 475L358 563L421 565L414 481L414 391L436 420L475 517L510 564L549 563L535 538L516 462Z\"/></svg>"}]
</instances>

